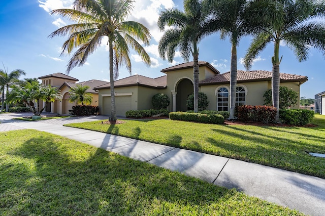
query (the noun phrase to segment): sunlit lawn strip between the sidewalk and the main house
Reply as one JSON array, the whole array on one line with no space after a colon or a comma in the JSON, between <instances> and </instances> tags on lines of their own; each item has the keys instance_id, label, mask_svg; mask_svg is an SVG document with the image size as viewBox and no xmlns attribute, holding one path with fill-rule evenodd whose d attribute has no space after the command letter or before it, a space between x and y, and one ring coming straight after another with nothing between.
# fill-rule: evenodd
<instances>
[{"instance_id":1,"label":"sunlit lawn strip between the sidewalk and the main house","mask_svg":"<svg viewBox=\"0 0 325 216\"><path fill-rule=\"evenodd\" d=\"M117 125L101 121L68 126L145 140L213 155L269 165L325 178L325 116L315 115L317 127L215 125L184 121L123 120Z\"/></svg>"}]
</instances>

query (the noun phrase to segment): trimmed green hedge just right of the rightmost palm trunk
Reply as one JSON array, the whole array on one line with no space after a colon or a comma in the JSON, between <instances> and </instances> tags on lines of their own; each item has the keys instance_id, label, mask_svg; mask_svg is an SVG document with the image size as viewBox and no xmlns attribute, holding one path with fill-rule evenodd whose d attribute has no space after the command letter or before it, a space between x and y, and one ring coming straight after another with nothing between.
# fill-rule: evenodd
<instances>
[{"instance_id":1,"label":"trimmed green hedge just right of the rightmost palm trunk","mask_svg":"<svg viewBox=\"0 0 325 216\"><path fill-rule=\"evenodd\" d=\"M280 109L280 120L285 124L305 125L311 122L314 111L304 109Z\"/></svg>"}]
</instances>

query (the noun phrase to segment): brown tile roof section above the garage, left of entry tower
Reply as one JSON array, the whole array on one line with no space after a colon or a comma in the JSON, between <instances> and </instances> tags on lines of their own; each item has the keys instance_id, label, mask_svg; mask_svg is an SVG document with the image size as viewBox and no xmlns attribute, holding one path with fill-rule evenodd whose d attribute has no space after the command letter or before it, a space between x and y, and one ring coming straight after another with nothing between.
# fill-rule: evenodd
<instances>
[{"instance_id":1,"label":"brown tile roof section above the garage, left of entry tower","mask_svg":"<svg viewBox=\"0 0 325 216\"><path fill-rule=\"evenodd\" d=\"M127 87L141 85L145 87L151 87L156 89L164 89L167 87L167 78L166 76L160 76L158 78L150 78L142 75L133 75L123 79L114 81L114 87ZM98 89L110 89L110 82L99 87L94 88Z\"/></svg>"}]
</instances>

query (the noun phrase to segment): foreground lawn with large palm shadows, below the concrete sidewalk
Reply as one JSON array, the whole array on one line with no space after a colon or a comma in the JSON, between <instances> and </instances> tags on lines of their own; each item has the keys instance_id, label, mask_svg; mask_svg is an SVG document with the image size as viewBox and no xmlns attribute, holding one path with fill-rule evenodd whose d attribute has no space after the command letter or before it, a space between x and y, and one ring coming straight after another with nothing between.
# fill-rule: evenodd
<instances>
[{"instance_id":1,"label":"foreground lawn with large palm shadows, below the concrete sidewalk","mask_svg":"<svg viewBox=\"0 0 325 216\"><path fill-rule=\"evenodd\" d=\"M0 146L0 215L303 215L44 132Z\"/></svg>"}]
</instances>

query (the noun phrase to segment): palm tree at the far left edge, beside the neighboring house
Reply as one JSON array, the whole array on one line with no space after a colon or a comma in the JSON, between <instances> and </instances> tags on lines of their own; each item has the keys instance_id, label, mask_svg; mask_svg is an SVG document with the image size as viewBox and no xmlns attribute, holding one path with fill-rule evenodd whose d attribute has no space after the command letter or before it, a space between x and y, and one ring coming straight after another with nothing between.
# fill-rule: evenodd
<instances>
[{"instance_id":1,"label":"palm tree at the far left edge, beside the neighboring house","mask_svg":"<svg viewBox=\"0 0 325 216\"><path fill-rule=\"evenodd\" d=\"M4 66L5 67L5 66ZM16 69L11 71L10 73L8 73L8 68L5 70L0 69L0 85L1 85L1 89L2 89L2 109L4 107L4 97L5 97L5 88L6 88L6 94L7 97L9 95L9 87L16 83L19 82L19 77L21 75L26 75L26 73L23 70L20 69ZM9 111L9 103L7 103L7 99L6 99L6 112Z\"/></svg>"}]
</instances>

